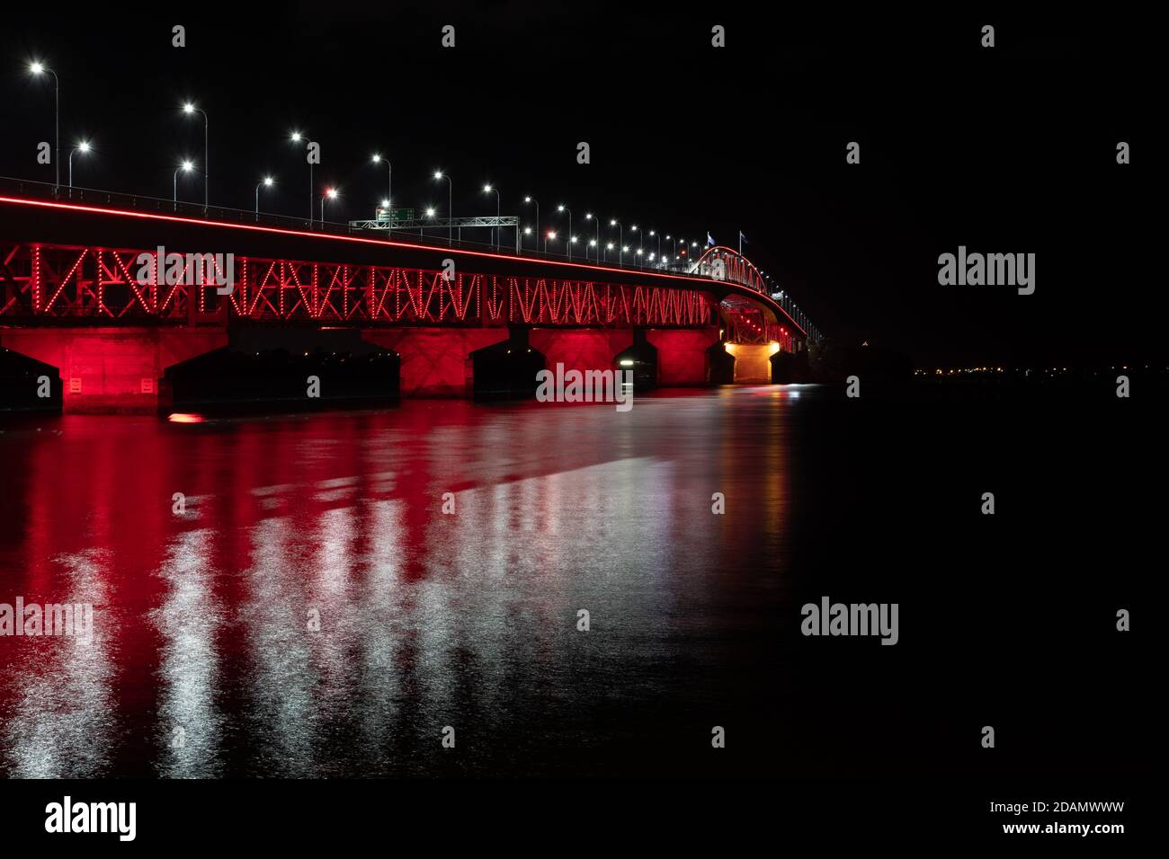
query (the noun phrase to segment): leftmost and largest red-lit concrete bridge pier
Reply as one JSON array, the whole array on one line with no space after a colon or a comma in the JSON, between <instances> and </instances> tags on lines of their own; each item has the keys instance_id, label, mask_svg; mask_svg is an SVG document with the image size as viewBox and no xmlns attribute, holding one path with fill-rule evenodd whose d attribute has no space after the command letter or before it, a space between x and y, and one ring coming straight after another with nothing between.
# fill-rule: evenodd
<instances>
[{"instance_id":1,"label":"leftmost and largest red-lit concrete bridge pier","mask_svg":"<svg viewBox=\"0 0 1169 859\"><path fill-rule=\"evenodd\" d=\"M153 414L172 363L227 346L226 331L196 328L14 328L0 345L53 365L64 385L62 410Z\"/></svg>"}]
</instances>

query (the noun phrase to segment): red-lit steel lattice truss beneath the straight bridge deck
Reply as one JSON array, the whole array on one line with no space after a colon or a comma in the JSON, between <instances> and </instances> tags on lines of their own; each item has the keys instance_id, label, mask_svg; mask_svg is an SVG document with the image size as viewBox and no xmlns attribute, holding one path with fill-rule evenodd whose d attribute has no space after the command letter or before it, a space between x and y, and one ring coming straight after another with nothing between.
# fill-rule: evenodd
<instances>
[{"instance_id":1,"label":"red-lit steel lattice truss beneath the straight bridge deck","mask_svg":"<svg viewBox=\"0 0 1169 859\"><path fill-rule=\"evenodd\" d=\"M139 255L150 262L139 264ZM144 261L145 262L145 261ZM222 264L222 262L220 262ZM235 257L220 296L210 259L185 257L179 278L159 277L157 252L9 244L0 249L0 323L154 321L228 318L334 325L524 325L704 327L714 300L700 290L441 271L385 265ZM143 276L145 275L145 276ZM180 283L171 284L170 279Z\"/></svg>"}]
</instances>

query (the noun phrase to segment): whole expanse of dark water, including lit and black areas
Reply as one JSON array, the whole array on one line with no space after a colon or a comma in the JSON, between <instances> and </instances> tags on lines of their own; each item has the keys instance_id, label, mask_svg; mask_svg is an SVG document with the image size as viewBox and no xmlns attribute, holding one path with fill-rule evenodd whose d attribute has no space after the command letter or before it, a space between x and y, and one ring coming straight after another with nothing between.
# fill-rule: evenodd
<instances>
[{"instance_id":1,"label":"whole expanse of dark water, including lit and black areas","mask_svg":"<svg viewBox=\"0 0 1169 859\"><path fill-rule=\"evenodd\" d=\"M1115 773L1142 425L815 386L9 425L0 602L95 632L0 637L0 771L980 775L991 723L997 773ZM899 644L801 636L822 595Z\"/></svg>"}]
</instances>

